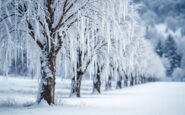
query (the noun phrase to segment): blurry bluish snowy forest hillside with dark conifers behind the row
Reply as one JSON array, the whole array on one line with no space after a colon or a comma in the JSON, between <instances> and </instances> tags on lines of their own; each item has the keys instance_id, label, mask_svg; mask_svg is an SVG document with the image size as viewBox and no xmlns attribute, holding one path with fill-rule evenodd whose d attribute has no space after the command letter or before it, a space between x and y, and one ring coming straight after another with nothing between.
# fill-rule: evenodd
<instances>
[{"instance_id":1,"label":"blurry bluish snowy forest hillside with dark conifers behind the row","mask_svg":"<svg viewBox=\"0 0 185 115\"><path fill-rule=\"evenodd\" d=\"M185 76L185 1L133 0L146 25L146 38L155 47L166 76L182 81Z\"/></svg>"}]
</instances>

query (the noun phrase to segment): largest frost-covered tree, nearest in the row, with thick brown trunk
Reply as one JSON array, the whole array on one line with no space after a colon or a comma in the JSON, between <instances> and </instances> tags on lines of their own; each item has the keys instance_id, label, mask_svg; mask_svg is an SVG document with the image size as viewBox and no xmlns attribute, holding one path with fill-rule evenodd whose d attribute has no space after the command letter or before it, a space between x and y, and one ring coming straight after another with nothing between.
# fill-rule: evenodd
<instances>
[{"instance_id":1,"label":"largest frost-covered tree, nearest in the row, with thick brown trunk","mask_svg":"<svg viewBox=\"0 0 185 115\"><path fill-rule=\"evenodd\" d=\"M41 81L37 102L42 99L54 104L56 57L62 47L67 30L77 21L77 12L84 9L89 0L10 0L3 3L2 21L11 28L26 31L40 51ZM16 18L17 20L13 20ZM11 24L15 21L17 26ZM23 34L25 35L25 34ZM24 41L21 36L20 41ZM18 39L18 38L16 38Z\"/></svg>"}]
</instances>

